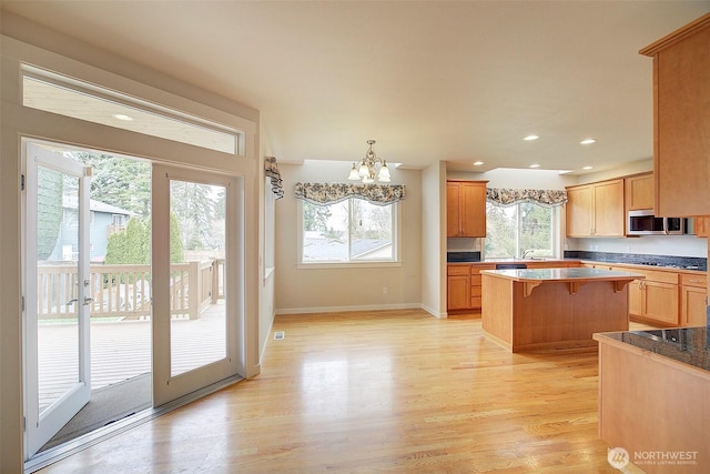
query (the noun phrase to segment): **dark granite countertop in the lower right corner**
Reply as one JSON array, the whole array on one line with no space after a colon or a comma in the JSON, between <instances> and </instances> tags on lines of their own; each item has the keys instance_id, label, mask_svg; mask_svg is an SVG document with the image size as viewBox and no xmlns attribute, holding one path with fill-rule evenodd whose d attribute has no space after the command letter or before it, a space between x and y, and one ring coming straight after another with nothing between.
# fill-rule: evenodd
<instances>
[{"instance_id":1,"label":"dark granite countertop in the lower right corner","mask_svg":"<svg viewBox=\"0 0 710 474\"><path fill-rule=\"evenodd\" d=\"M710 333L707 326L628 331L598 335L710 371Z\"/></svg>"}]
</instances>

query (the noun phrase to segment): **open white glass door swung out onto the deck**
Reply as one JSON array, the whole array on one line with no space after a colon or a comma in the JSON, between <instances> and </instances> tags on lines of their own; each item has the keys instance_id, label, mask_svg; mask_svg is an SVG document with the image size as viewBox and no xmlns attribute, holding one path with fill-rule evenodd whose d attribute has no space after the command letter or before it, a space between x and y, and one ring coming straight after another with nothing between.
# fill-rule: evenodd
<instances>
[{"instance_id":1,"label":"open white glass door swung out onto the deck","mask_svg":"<svg viewBox=\"0 0 710 474\"><path fill-rule=\"evenodd\" d=\"M91 396L90 175L90 168L27 143L27 458Z\"/></svg>"}]
</instances>

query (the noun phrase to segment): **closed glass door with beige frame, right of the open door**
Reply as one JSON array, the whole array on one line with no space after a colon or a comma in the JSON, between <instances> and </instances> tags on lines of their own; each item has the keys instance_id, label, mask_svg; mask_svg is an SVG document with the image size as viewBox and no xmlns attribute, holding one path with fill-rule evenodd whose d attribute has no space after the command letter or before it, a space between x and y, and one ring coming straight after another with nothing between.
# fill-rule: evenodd
<instances>
[{"instance_id":1,"label":"closed glass door with beige frame, right of the open door","mask_svg":"<svg viewBox=\"0 0 710 474\"><path fill-rule=\"evenodd\" d=\"M236 374L237 183L153 167L154 406Z\"/></svg>"}]
</instances>

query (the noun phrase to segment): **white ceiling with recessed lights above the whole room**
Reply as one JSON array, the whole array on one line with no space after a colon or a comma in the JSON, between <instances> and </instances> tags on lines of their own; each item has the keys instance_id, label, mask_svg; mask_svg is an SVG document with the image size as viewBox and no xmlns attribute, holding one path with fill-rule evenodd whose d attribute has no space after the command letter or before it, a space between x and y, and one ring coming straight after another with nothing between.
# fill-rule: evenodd
<instances>
[{"instance_id":1,"label":"white ceiling with recessed lights above the whole room","mask_svg":"<svg viewBox=\"0 0 710 474\"><path fill-rule=\"evenodd\" d=\"M710 1L6 1L261 111L280 162L581 172L652 157L651 59ZM523 137L536 133L534 142ZM584 138L594 145L580 145Z\"/></svg>"}]
</instances>

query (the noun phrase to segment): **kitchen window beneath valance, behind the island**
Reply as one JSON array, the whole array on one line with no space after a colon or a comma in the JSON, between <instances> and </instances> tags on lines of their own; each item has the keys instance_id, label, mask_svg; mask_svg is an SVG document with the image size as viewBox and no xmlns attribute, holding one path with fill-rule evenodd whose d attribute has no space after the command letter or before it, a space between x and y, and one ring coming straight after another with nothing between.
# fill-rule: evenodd
<instances>
[{"instance_id":1,"label":"kitchen window beneath valance, behind the island","mask_svg":"<svg viewBox=\"0 0 710 474\"><path fill-rule=\"evenodd\" d=\"M559 206L532 202L486 204L486 259L556 258Z\"/></svg>"}]
</instances>

